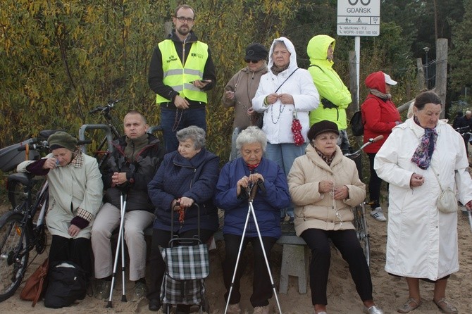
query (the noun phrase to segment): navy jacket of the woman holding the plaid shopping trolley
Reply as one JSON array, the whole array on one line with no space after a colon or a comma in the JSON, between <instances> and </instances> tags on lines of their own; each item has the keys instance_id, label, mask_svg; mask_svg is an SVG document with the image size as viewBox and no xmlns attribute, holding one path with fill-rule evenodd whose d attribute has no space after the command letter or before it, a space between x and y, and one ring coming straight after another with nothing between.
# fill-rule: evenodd
<instances>
[{"instance_id":1,"label":"navy jacket of the woman holding the plaid shopping trolley","mask_svg":"<svg viewBox=\"0 0 472 314\"><path fill-rule=\"evenodd\" d=\"M191 159L182 157L178 151L164 156L161 167L148 185L149 197L156 207L154 228L170 231L172 201L186 196L200 206L201 229L218 229L218 208L213 205L212 198L218 180L219 162L220 158L206 149L201 149ZM177 213L173 216L174 232L197 229L197 210L194 206L187 208L182 224Z\"/></svg>"}]
</instances>

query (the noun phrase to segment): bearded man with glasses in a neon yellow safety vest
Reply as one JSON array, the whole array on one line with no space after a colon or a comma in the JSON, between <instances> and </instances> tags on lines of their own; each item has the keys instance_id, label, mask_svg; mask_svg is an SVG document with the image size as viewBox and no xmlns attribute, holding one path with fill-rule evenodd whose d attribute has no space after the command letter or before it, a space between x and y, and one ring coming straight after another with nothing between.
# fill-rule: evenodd
<instances>
[{"instance_id":1,"label":"bearded man with glasses in a neon yellow safety vest","mask_svg":"<svg viewBox=\"0 0 472 314\"><path fill-rule=\"evenodd\" d=\"M206 131L206 91L216 84L210 49L192 31L193 8L178 6L172 20L175 30L154 49L148 75L149 87L161 105L167 153L178 148L177 131L190 125Z\"/></svg>"}]
</instances>

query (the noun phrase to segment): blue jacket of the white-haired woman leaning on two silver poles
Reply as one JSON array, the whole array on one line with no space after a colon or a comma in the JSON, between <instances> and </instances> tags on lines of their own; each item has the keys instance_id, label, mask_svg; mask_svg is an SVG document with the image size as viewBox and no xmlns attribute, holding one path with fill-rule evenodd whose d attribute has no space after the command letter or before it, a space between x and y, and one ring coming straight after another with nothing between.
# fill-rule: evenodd
<instances>
[{"instance_id":1,"label":"blue jacket of the white-haired woman leaning on two silver poles","mask_svg":"<svg viewBox=\"0 0 472 314\"><path fill-rule=\"evenodd\" d=\"M262 158L261 163L254 172L264 177L263 191L258 188L253 201L254 213L262 237L279 238L280 209L290 206L290 194L288 191L287 177L279 165L267 158ZM249 176L244 160L236 158L227 163L221 170L218 184L216 184L215 205L225 211L225 225L223 234L242 235L244 223L249 210L247 194L237 196L237 181L244 175ZM249 218L245 237L257 237L256 225L252 216Z\"/></svg>"}]
</instances>

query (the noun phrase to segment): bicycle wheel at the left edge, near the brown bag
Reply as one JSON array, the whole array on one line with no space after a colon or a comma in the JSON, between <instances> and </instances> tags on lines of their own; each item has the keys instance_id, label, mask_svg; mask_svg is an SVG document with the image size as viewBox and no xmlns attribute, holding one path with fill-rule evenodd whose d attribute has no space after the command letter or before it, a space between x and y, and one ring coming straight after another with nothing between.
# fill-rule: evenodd
<instances>
[{"instance_id":1,"label":"bicycle wheel at the left edge, near the brown bag","mask_svg":"<svg viewBox=\"0 0 472 314\"><path fill-rule=\"evenodd\" d=\"M12 296L21 284L27 268L27 232L23 215L8 211L0 218L0 302Z\"/></svg>"}]
</instances>

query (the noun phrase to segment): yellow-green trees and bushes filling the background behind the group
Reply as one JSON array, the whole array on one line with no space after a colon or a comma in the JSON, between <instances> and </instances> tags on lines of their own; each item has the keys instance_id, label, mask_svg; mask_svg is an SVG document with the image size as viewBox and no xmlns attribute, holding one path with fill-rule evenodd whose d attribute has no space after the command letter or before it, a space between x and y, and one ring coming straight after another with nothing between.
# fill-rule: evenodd
<instances>
[{"instance_id":1,"label":"yellow-green trees and bushes filling the background behind the group","mask_svg":"<svg viewBox=\"0 0 472 314\"><path fill-rule=\"evenodd\" d=\"M159 106L147 84L149 61L156 44L166 37L166 22L182 1L0 1L4 122L0 147L35 136L39 130L60 128L77 134L83 123L103 123L88 111L108 99L126 99L116 107L120 117L137 109L151 125L159 124ZM433 44L437 13L438 35L452 34L451 58L457 73L452 80L458 87L459 80L468 77L468 67L459 56L464 58L471 50L466 46L471 38L471 0L464 0L464 6L462 1L383 0L380 36L361 38L361 85L369 73L385 70L400 82L393 91L396 103L414 96L414 58L422 55L426 43ZM226 82L244 66L247 44L269 46L275 37L287 36L297 49L299 66L306 68L309 39L330 34L337 40L335 69L344 82L349 81L348 54L354 50L354 37L336 34L336 0L194 0L187 4L195 8L194 31L209 44L216 65L218 82L209 92L207 106L207 140L223 162L229 156L233 112L221 106L221 96ZM361 89L361 98L365 93Z\"/></svg>"}]
</instances>

